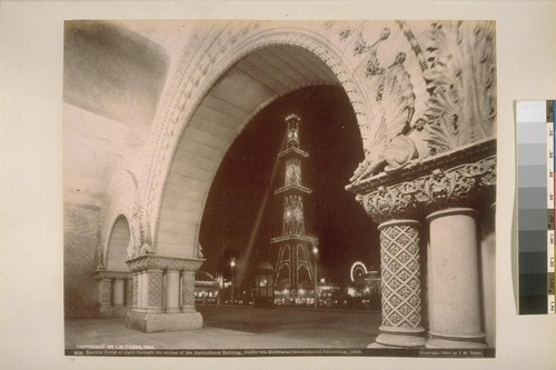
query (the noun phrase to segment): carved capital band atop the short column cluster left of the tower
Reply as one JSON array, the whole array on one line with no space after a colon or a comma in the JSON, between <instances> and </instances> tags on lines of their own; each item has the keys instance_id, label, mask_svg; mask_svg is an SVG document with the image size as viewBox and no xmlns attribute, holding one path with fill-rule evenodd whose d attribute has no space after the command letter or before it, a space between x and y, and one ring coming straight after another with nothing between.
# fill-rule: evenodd
<instances>
[{"instance_id":1,"label":"carved capital band atop the short column cluster left of the tower","mask_svg":"<svg viewBox=\"0 0 556 370\"><path fill-rule=\"evenodd\" d=\"M200 269L205 259L179 258L160 254L143 254L126 261L132 272L147 270L192 271Z\"/></svg>"}]
</instances>

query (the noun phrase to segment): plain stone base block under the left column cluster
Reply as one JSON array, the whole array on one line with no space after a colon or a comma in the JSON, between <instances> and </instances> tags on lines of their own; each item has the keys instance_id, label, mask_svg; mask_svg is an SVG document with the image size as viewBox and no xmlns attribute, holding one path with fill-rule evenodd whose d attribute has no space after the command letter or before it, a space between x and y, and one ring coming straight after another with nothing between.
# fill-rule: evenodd
<instances>
[{"instance_id":1,"label":"plain stone base block under the left column cluster","mask_svg":"<svg viewBox=\"0 0 556 370\"><path fill-rule=\"evenodd\" d=\"M129 311L126 317L126 328L142 332L202 329L202 317L199 312L149 313Z\"/></svg>"}]
</instances>

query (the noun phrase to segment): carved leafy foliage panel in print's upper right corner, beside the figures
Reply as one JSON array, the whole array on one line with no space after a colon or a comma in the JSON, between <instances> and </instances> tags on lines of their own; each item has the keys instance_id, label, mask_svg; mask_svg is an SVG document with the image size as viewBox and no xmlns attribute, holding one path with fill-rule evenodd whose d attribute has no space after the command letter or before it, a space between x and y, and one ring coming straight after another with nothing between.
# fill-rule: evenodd
<instances>
[{"instance_id":1,"label":"carved leafy foliage panel in print's upper right corner, beside the figures","mask_svg":"<svg viewBox=\"0 0 556 370\"><path fill-rule=\"evenodd\" d=\"M423 43L428 69L425 127L430 154L495 132L496 60L493 22L435 22Z\"/></svg>"}]
</instances>

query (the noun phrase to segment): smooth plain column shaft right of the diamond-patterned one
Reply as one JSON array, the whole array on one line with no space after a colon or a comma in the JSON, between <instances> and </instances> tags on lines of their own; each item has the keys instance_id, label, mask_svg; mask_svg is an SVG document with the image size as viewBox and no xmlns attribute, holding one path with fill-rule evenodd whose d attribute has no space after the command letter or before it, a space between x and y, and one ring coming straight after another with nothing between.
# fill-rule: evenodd
<instances>
[{"instance_id":1,"label":"smooth plain column shaft right of the diamond-patterned one","mask_svg":"<svg viewBox=\"0 0 556 370\"><path fill-rule=\"evenodd\" d=\"M427 217L428 348L486 347L480 322L476 214L470 208L448 208Z\"/></svg>"}]
</instances>

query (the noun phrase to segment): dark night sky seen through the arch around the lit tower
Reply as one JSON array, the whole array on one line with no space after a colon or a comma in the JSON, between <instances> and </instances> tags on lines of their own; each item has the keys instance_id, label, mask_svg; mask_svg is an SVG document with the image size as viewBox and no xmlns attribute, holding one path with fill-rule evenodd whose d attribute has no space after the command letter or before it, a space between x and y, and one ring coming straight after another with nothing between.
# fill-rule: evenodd
<instances>
[{"instance_id":1,"label":"dark night sky seen through the arch around the lit tower","mask_svg":"<svg viewBox=\"0 0 556 370\"><path fill-rule=\"evenodd\" d=\"M285 163L276 167L276 157L290 113L301 118L300 147L309 153L302 166L302 184L312 189L305 198L305 228L319 239L319 278L345 286L355 261L379 267L379 241L376 224L344 189L364 154L354 110L338 87L305 88L278 99L236 139L206 203L201 270L229 277L236 257L236 284L249 286L256 266L269 258L270 238L281 233L282 198L274 191L284 186Z\"/></svg>"}]
</instances>

